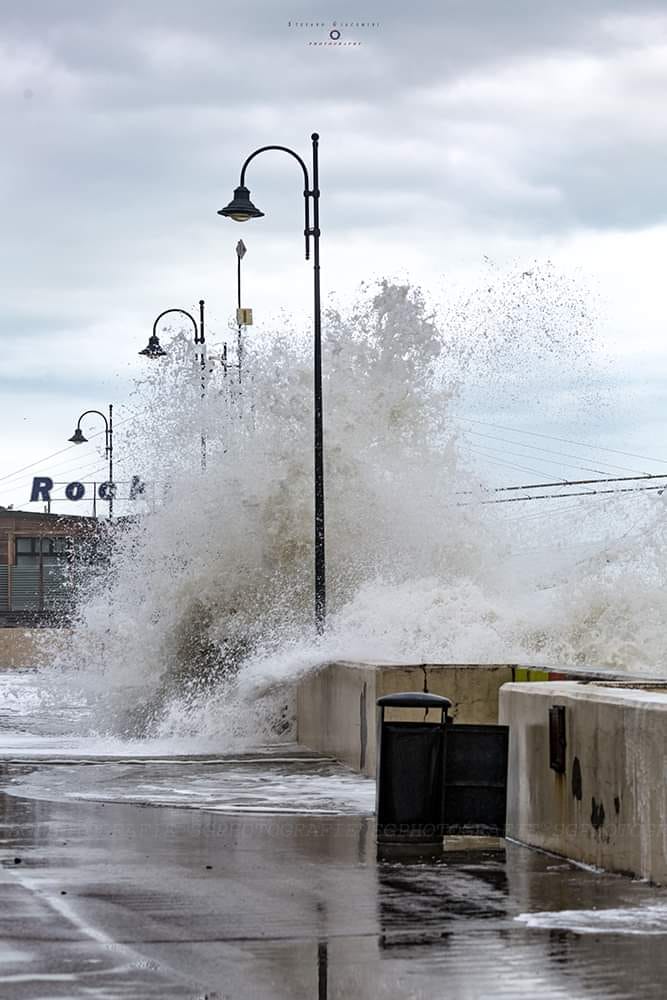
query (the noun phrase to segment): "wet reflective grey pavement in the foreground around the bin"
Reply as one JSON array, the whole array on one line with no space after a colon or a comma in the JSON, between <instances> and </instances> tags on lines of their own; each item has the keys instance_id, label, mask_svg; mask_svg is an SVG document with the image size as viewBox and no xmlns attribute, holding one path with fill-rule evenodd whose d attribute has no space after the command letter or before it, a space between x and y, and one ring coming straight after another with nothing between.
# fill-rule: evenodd
<instances>
[{"instance_id":1,"label":"wet reflective grey pavement in the foreground around the bin","mask_svg":"<svg viewBox=\"0 0 667 1000\"><path fill-rule=\"evenodd\" d=\"M665 890L504 841L379 863L372 816L122 800L127 762L94 764L102 799L122 773L90 801L90 766L54 786L56 767L2 765L3 1000L664 996ZM148 766L158 791L203 775Z\"/></svg>"}]
</instances>

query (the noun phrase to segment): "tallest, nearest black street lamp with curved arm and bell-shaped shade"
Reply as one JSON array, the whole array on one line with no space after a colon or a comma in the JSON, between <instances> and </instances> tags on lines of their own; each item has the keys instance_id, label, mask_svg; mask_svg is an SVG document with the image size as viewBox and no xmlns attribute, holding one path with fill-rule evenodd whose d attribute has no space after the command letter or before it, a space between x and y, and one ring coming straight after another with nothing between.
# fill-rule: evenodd
<instances>
[{"instance_id":1,"label":"tallest, nearest black street lamp with curved arm and bell-shaped shade","mask_svg":"<svg viewBox=\"0 0 667 1000\"><path fill-rule=\"evenodd\" d=\"M315 623L318 632L324 631L326 618L326 564L324 547L324 451L322 427L322 320L320 307L320 191L318 144L319 135L312 136L312 186L308 168L298 153L287 146L261 146L246 159L241 167L239 186L234 191L234 197L229 205L220 209L218 215L223 215L235 222L247 222L248 219L260 219L264 215L250 201L250 191L245 186L245 172L251 160L260 153L277 149L288 153L300 165L304 179L304 209L305 226L303 234L306 238L306 260L310 258L310 239L313 239L313 366L314 366L314 410L315 410ZM310 203L313 204L313 224L310 224Z\"/></svg>"}]
</instances>

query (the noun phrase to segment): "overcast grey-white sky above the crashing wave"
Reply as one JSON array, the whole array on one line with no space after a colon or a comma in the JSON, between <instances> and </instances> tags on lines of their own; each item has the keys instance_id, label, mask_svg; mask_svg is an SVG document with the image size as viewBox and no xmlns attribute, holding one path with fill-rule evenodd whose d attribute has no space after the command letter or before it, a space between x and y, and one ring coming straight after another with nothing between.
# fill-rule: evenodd
<instances>
[{"instance_id":1,"label":"overcast grey-white sky above the crashing wave","mask_svg":"<svg viewBox=\"0 0 667 1000\"><path fill-rule=\"evenodd\" d=\"M311 44L334 20L361 44ZM314 130L325 294L551 259L600 305L623 405L597 441L667 458L666 92L664 0L0 0L0 504L120 407L158 312L204 297L224 333L240 236L254 333L307 316L296 165L249 170L265 219L216 212L247 153Z\"/></svg>"}]
</instances>

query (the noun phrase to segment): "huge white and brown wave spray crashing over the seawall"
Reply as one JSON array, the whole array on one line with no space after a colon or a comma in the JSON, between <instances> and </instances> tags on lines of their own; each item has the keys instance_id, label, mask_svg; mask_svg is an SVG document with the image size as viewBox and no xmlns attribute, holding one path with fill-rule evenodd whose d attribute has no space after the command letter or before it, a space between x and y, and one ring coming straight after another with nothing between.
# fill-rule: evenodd
<instances>
[{"instance_id":1,"label":"huge white and brown wave spray crashing over the seawall","mask_svg":"<svg viewBox=\"0 0 667 1000\"><path fill-rule=\"evenodd\" d=\"M576 282L538 265L488 281L447 309L383 282L326 312L322 638L308 330L254 330L241 382L212 346L205 392L193 345L174 338L119 449L148 484L144 510L81 588L59 656L99 698L100 726L275 737L289 726L285 681L342 657L641 669L661 654L663 563L645 558L664 552L661 498L638 497L629 526L615 497L602 516L585 500L570 517L483 502L466 393L485 386L487 405L505 403L507 387L537 380L551 402L549 375L569 366L583 414L593 366Z\"/></svg>"}]
</instances>

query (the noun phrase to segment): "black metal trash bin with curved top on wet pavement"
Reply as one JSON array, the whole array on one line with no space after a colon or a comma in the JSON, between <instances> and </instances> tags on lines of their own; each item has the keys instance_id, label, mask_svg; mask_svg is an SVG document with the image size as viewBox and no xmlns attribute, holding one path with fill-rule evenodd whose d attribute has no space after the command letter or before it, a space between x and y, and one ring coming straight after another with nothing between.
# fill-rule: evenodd
<instances>
[{"instance_id":1,"label":"black metal trash bin with curved top on wet pavement","mask_svg":"<svg viewBox=\"0 0 667 1000\"><path fill-rule=\"evenodd\" d=\"M378 698L376 817L378 844L442 847L445 730L449 698L420 691ZM394 722L389 708L440 712L438 722Z\"/></svg>"}]
</instances>

